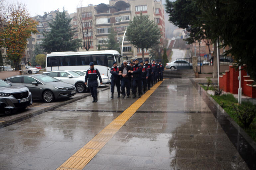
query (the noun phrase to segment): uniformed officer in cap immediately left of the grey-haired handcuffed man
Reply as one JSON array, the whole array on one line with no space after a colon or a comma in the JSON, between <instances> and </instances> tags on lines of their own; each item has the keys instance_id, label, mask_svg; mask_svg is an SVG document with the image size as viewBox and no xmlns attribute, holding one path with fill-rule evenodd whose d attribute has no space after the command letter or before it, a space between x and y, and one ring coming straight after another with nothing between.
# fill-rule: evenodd
<instances>
[{"instance_id":1,"label":"uniformed officer in cap immediately left of the grey-haired handcuffed man","mask_svg":"<svg viewBox=\"0 0 256 170\"><path fill-rule=\"evenodd\" d=\"M113 66L111 67L110 73L112 74L111 76L111 98L114 96L114 88L116 85L118 95L117 97L120 97L120 75L122 73L119 73L119 66L117 66L116 62L113 62Z\"/></svg>"}]
</instances>

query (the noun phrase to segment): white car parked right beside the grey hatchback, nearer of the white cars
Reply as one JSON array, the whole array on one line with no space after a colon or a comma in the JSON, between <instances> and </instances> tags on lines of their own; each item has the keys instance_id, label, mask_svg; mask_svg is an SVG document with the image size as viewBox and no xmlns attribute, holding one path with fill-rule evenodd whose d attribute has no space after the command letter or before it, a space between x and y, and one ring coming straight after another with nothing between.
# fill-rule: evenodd
<instances>
[{"instance_id":1,"label":"white car parked right beside the grey hatchback, nearer of the white cars","mask_svg":"<svg viewBox=\"0 0 256 170\"><path fill-rule=\"evenodd\" d=\"M75 85L76 91L78 93L82 93L82 92L85 92L85 90L87 90L87 86L84 84L85 76L81 76L80 74L76 73L75 71L72 71L72 70L60 71L59 70L59 71L44 72L43 74L54 77L63 82ZM99 81L98 81L98 84L100 85Z\"/></svg>"}]
</instances>

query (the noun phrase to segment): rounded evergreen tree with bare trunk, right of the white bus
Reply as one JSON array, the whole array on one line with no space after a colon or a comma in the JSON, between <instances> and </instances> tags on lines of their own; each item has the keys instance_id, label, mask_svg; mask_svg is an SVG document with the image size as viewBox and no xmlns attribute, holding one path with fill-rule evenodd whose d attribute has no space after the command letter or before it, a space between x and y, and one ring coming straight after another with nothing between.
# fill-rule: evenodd
<instances>
[{"instance_id":1,"label":"rounded evergreen tree with bare trunk, right of the white bus","mask_svg":"<svg viewBox=\"0 0 256 170\"><path fill-rule=\"evenodd\" d=\"M152 48L158 44L158 40L161 37L160 29L157 24L152 20L149 20L148 15L134 16L133 21L126 31L128 40L136 47L141 48L142 60L144 60L144 49Z\"/></svg>"}]
</instances>

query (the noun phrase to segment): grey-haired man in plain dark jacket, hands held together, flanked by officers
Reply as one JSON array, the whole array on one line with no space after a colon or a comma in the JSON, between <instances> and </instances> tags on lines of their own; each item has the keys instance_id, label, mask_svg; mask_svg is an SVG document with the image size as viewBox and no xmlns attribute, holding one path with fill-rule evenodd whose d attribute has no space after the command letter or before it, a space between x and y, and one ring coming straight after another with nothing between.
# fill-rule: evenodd
<instances>
[{"instance_id":1,"label":"grey-haired man in plain dark jacket, hands held together, flanked by officers","mask_svg":"<svg viewBox=\"0 0 256 170\"><path fill-rule=\"evenodd\" d=\"M121 76L122 98L125 97L125 87L126 87L126 92L127 92L127 98L130 97L131 73L128 73L129 70L132 70L131 66L128 66L127 61L124 61L123 66L120 67L120 69L119 69L119 73L122 73L122 76Z\"/></svg>"}]
</instances>

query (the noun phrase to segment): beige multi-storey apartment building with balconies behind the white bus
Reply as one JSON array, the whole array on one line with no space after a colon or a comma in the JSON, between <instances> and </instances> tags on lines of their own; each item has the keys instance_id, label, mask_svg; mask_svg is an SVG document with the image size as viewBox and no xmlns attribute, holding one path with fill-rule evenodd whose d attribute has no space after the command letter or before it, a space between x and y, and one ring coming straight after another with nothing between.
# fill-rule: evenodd
<instances>
[{"instance_id":1,"label":"beige multi-storey apartment building with balconies behind the white bus","mask_svg":"<svg viewBox=\"0 0 256 170\"><path fill-rule=\"evenodd\" d=\"M162 1L156 0L110 0L109 4L89 5L88 7L77 8L77 13L70 14L73 17L73 27L78 27L77 38L83 38L81 33L81 24L91 28L89 38L91 40L91 48L89 50L97 50L98 44L104 45L111 28L117 32L116 38L120 43L124 35L129 21L135 15L149 15L150 20L154 20L162 32L162 42L165 39L165 22L164 7ZM75 16L76 15L76 16ZM90 23L90 24L86 24ZM83 27L84 28L84 27ZM88 32L88 31L87 31ZM86 36L84 36L86 37ZM85 48L79 49L85 51ZM142 58L141 49L135 48L127 38L124 38L123 55L131 58ZM149 49L145 49L145 58L149 58Z\"/></svg>"}]
</instances>

